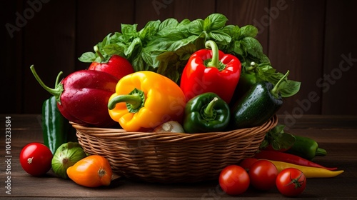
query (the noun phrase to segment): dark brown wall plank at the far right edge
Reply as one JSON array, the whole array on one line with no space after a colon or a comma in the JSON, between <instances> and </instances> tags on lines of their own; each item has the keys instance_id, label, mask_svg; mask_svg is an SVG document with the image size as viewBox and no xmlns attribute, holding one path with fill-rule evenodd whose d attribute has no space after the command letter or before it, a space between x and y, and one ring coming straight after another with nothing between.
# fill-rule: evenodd
<instances>
[{"instance_id":1,"label":"dark brown wall plank at the far right edge","mask_svg":"<svg viewBox=\"0 0 357 200\"><path fill-rule=\"evenodd\" d=\"M326 4L323 75L318 82L323 91L322 114L357 114L356 7L357 1Z\"/></svg>"}]
</instances>

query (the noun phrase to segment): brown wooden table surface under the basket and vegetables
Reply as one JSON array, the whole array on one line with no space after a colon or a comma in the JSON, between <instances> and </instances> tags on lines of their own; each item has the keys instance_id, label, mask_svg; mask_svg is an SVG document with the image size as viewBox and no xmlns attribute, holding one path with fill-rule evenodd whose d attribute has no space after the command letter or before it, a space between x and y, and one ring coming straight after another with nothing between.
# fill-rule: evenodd
<instances>
[{"instance_id":1,"label":"brown wooden table surface under the basket and vegetables","mask_svg":"<svg viewBox=\"0 0 357 200\"><path fill-rule=\"evenodd\" d=\"M1 114L1 199L290 199L277 189L256 191L249 188L240 196L228 196L217 181L195 184L149 184L120 178L110 186L89 189L71 180L54 176L33 177L21 168L19 153L30 142L42 142L41 116L37 114ZM11 157L6 157L5 121L11 116ZM314 159L324 166L336 166L344 173L328 179L308 179L303 194L294 199L357 199L357 116L303 115L301 118L278 116L292 134L309 136L326 149L327 156ZM11 159L11 164L6 160ZM11 171L11 194L6 189L6 169ZM9 182L9 181L8 181Z\"/></svg>"}]
</instances>

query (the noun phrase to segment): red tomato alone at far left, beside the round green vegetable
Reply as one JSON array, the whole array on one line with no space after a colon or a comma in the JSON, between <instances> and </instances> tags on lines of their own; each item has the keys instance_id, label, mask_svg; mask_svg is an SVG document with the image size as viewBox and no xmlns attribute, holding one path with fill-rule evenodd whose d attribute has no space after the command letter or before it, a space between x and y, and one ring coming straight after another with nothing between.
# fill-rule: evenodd
<instances>
[{"instance_id":1,"label":"red tomato alone at far left, beside the round green vegetable","mask_svg":"<svg viewBox=\"0 0 357 200\"><path fill-rule=\"evenodd\" d=\"M44 144L33 142L27 144L20 152L22 169L32 176L41 176L51 169L53 154Z\"/></svg>"}]
</instances>

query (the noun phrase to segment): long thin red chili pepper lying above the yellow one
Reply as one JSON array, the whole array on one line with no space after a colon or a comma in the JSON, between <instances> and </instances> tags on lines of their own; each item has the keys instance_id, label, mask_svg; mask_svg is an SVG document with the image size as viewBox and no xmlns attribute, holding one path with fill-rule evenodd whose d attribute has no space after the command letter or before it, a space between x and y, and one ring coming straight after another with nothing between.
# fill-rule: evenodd
<instances>
[{"instance_id":1,"label":"long thin red chili pepper lying above the yellow one","mask_svg":"<svg viewBox=\"0 0 357 200\"><path fill-rule=\"evenodd\" d=\"M302 166L313 166L313 167L318 167L318 168L323 168L323 169L328 169L328 170L336 170L337 167L326 167L326 166L321 166L320 164L316 164L313 161L309 161L306 159L301 158L300 156L296 156L293 154L287 154L281 151L267 151L267 150L261 150L256 155L254 156L256 159L267 159L267 160L273 160L273 161L283 161L291 164L297 164L297 165L302 165Z\"/></svg>"}]
</instances>

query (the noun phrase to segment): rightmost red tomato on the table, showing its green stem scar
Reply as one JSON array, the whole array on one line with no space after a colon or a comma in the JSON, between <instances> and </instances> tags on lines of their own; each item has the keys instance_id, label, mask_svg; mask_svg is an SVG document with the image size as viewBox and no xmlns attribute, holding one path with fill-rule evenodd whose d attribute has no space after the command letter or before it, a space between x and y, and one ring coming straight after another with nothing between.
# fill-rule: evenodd
<instances>
[{"instance_id":1,"label":"rightmost red tomato on the table, showing its green stem scar","mask_svg":"<svg viewBox=\"0 0 357 200\"><path fill-rule=\"evenodd\" d=\"M306 188L306 176L295 168L283 169L276 177L276 187L285 196L297 196Z\"/></svg>"}]
</instances>

